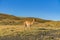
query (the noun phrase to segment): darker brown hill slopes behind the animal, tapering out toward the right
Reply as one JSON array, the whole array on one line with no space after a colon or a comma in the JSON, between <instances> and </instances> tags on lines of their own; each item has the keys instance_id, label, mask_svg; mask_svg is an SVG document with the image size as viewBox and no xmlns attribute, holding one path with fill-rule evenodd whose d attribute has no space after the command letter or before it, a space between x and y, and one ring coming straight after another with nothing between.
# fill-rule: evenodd
<instances>
[{"instance_id":1,"label":"darker brown hill slopes behind the animal, tapering out toward the right","mask_svg":"<svg viewBox=\"0 0 60 40\"><path fill-rule=\"evenodd\" d=\"M34 18L34 17L17 17L14 15L0 13L0 25L18 25L23 23L25 20L31 21L32 19L35 19L35 22L38 22L38 23L51 21L51 20L44 20L40 18Z\"/></svg>"}]
</instances>

